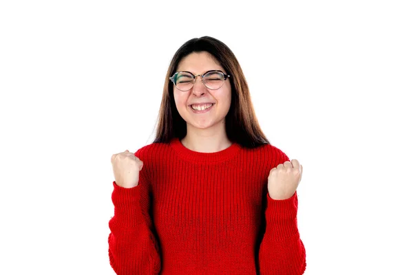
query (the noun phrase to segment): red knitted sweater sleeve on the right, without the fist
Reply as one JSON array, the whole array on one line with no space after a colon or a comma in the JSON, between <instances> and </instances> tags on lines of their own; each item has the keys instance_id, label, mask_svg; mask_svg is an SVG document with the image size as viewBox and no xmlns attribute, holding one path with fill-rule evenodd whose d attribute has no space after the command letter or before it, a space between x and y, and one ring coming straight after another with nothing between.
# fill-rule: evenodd
<instances>
[{"instance_id":1,"label":"red knitted sweater sleeve on the right, without the fist","mask_svg":"<svg viewBox=\"0 0 413 275\"><path fill-rule=\"evenodd\" d=\"M281 162L289 161L279 152ZM297 227L297 192L288 199L275 200L266 193L266 230L259 251L260 274L302 275L306 250Z\"/></svg>"}]
</instances>

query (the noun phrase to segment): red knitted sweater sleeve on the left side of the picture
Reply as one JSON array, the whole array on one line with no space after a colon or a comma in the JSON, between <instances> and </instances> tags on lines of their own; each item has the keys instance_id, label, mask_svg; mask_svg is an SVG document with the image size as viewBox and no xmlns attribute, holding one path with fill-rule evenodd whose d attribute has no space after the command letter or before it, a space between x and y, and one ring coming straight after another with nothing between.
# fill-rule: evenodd
<instances>
[{"instance_id":1,"label":"red knitted sweater sleeve on the left side of the picture","mask_svg":"<svg viewBox=\"0 0 413 275\"><path fill-rule=\"evenodd\" d=\"M144 166L145 167L145 166ZM118 275L159 274L160 252L149 215L149 183L123 188L113 182L114 217L109 221L109 262Z\"/></svg>"}]
</instances>

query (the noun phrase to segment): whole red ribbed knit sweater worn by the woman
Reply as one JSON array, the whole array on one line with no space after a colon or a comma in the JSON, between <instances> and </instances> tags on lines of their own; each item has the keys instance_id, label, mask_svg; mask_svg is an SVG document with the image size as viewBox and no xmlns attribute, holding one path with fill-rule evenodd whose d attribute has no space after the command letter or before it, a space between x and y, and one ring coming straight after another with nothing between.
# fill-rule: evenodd
<instances>
[{"instance_id":1,"label":"whole red ribbed knit sweater worn by the woman","mask_svg":"<svg viewBox=\"0 0 413 275\"><path fill-rule=\"evenodd\" d=\"M271 168L289 160L265 144L233 143L215 153L178 138L136 153L139 184L114 181L109 262L116 274L303 274L297 192L268 195Z\"/></svg>"}]
</instances>

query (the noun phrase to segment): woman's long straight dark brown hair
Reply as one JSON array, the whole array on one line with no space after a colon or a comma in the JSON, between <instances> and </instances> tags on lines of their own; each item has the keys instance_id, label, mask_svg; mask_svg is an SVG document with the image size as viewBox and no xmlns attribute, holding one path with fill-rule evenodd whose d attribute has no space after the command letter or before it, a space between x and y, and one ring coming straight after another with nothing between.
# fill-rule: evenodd
<instances>
[{"instance_id":1,"label":"woman's long straight dark brown hair","mask_svg":"<svg viewBox=\"0 0 413 275\"><path fill-rule=\"evenodd\" d=\"M153 143L169 143L173 137L182 139L187 135L187 122L180 116L173 98L173 83L169 80L175 74L178 64L192 52L209 52L226 74L231 75L231 107L225 117L226 135L231 142L255 148L269 144L258 124L248 85L240 63L224 43L210 36L191 39L184 43L173 56L165 77L162 102L158 114L156 137Z\"/></svg>"}]
</instances>

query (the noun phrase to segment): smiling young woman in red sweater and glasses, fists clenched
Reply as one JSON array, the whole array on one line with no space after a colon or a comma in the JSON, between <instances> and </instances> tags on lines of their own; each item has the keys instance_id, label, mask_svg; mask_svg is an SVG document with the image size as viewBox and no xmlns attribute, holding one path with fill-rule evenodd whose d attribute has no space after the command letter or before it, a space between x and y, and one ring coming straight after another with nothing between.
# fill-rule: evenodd
<instances>
[{"instance_id":1,"label":"smiling young woman in red sweater and glasses, fists clenched","mask_svg":"<svg viewBox=\"0 0 413 275\"><path fill-rule=\"evenodd\" d=\"M116 274L303 274L302 166L268 142L233 52L209 36L173 56L156 139L112 155Z\"/></svg>"}]
</instances>

